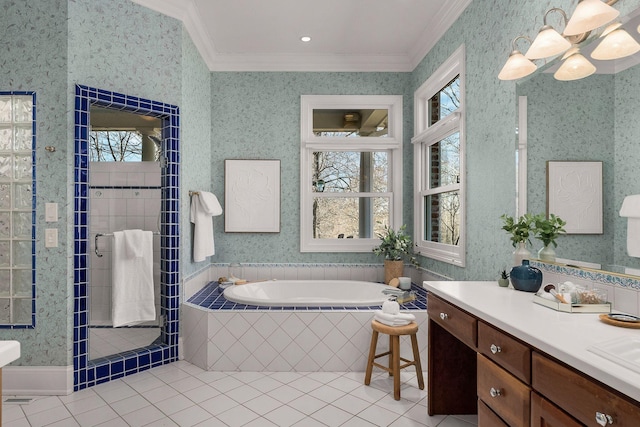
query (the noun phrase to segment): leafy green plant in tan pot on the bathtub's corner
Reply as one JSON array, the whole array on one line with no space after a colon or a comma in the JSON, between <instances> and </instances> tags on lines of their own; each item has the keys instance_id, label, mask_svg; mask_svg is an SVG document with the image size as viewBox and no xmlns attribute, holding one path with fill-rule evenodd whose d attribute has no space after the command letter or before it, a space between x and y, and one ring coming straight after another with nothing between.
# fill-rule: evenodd
<instances>
[{"instance_id":1,"label":"leafy green plant in tan pot on the bathtub's corner","mask_svg":"<svg viewBox=\"0 0 640 427\"><path fill-rule=\"evenodd\" d=\"M417 265L413 256L411 237L406 234L406 224L398 231L386 226L384 232L378 234L380 245L373 248L373 253L384 256L384 282L389 284L394 277L401 277L404 270L404 260Z\"/></svg>"}]
</instances>

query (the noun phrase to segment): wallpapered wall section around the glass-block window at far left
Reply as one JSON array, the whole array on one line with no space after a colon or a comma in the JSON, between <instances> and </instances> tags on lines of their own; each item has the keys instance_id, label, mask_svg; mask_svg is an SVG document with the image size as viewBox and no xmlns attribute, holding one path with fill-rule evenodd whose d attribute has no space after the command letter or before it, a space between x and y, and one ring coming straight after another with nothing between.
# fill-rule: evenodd
<instances>
[{"instance_id":1,"label":"wallpapered wall section around the glass-block window at far left","mask_svg":"<svg viewBox=\"0 0 640 427\"><path fill-rule=\"evenodd\" d=\"M0 339L21 344L16 365L67 365L73 321L70 299L73 280L67 256L67 2L2 1L0 13L0 88L35 91L36 117L36 327L0 331ZM49 153L44 147L56 147ZM70 144L73 147L73 144ZM73 148L71 148L73 154ZM44 203L60 203L60 246L44 248ZM51 228L51 223L46 227ZM72 240L73 241L73 240Z\"/></svg>"}]
</instances>

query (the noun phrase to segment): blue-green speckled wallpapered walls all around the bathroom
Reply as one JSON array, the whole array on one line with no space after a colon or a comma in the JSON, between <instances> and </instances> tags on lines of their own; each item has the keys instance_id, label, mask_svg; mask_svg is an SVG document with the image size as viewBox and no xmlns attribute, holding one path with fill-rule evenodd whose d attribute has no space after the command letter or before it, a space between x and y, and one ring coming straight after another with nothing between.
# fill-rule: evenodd
<instances>
[{"instance_id":1,"label":"blue-green speckled wallpapered walls all around the bathroom","mask_svg":"<svg viewBox=\"0 0 640 427\"><path fill-rule=\"evenodd\" d=\"M640 1L616 5L622 13ZM282 231L222 233L215 219L213 262L371 262L372 254L299 252L299 96L404 96L404 222L412 213L413 92L461 44L466 45L467 268L421 259L456 279L493 279L510 261L499 231L502 213L515 211L515 83L497 74L513 37L535 34L551 6L572 10L575 0L475 1L411 73L209 73L182 24L129 0L3 1L0 36L2 90L38 96L37 327L0 331L19 339L21 365L66 366L72 361L73 87L76 83L176 104L181 109L182 276L204 268L191 262L188 190L211 189L223 200L225 158L282 160ZM632 114L628 111L627 114ZM635 136L632 135L632 136ZM632 138L619 147L628 148ZM636 138L637 139L637 138ZM618 150L616 161L625 154ZM636 161L627 161L632 170ZM66 167L64 167L66 165ZM622 180L622 179L621 179ZM616 201L631 188L616 185ZM60 246L45 249L44 203L60 204ZM618 230L616 230L616 234Z\"/></svg>"}]
</instances>

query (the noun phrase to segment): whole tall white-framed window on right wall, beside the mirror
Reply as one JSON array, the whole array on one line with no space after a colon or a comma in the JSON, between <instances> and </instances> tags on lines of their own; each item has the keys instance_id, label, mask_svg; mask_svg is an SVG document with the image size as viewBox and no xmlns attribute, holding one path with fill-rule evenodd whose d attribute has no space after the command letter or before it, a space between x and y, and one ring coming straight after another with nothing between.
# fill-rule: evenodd
<instances>
[{"instance_id":1,"label":"whole tall white-framed window on right wall, beside the mirror","mask_svg":"<svg viewBox=\"0 0 640 427\"><path fill-rule=\"evenodd\" d=\"M464 47L414 94L416 251L465 265Z\"/></svg>"}]
</instances>

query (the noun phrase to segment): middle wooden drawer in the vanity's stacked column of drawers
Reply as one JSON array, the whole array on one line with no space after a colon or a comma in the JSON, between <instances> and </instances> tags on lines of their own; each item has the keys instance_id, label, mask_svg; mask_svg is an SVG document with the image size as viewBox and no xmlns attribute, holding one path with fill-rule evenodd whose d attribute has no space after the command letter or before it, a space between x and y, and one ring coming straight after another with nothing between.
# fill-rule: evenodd
<instances>
[{"instance_id":1,"label":"middle wooden drawer in the vanity's stacked column of drawers","mask_svg":"<svg viewBox=\"0 0 640 427\"><path fill-rule=\"evenodd\" d=\"M508 425L528 426L529 387L478 353L478 398Z\"/></svg>"}]
</instances>

